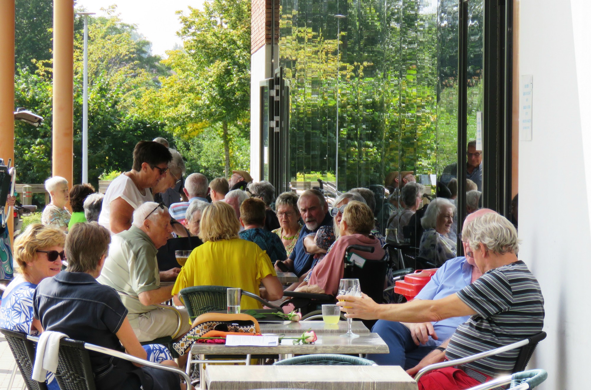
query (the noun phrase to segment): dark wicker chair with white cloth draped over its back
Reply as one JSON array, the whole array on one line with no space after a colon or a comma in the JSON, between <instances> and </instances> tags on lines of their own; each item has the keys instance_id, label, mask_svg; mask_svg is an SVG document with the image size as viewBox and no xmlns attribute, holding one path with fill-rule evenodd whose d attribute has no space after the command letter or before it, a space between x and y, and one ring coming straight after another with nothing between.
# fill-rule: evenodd
<instances>
[{"instance_id":1,"label":"dark wicker chair with white cloth draped over its back","mask_svg":"<svg viewBox=\"0 0 591 390\"><path fill-rule=\"evenodd\" d=\"M30 390L45 390L46 385L33 381L31 373L33 372L33 363L35 359L34 343L38 342L38 337L28 336L20 332L12 332L11 330L2 329L2 333L7 336L7 340L21 340L17 344L24 345L27 351L26 356L22 360L27 360L21 371L26 373L24 376L27 381L27 386ZM12 343L11 349L12 349ZM22 352L22 347L19 348L19 353ZM184 380L189 383L189 376L184 373L181 369L174 368L171 366L165 366L154 362L148 362L148 360L139 359L135 356L127 355L126 353L119 352L117 350L104 348L98 345L92 345L79 340L72 339L61 339L60 350L56 370L56 380L60 385L61 390L95 390L95 375L92 371L92 365L90 364L90 356L88 351L105 353L105 355L114 356L115 358L121 358L129 360L133 363L138 363L143 366L148 366L157 369L163 369L164 371L172 371L180 375ZM14 349L13 349L14 353ZM27 379L28 378L28 379Z\"/></svg>"}]
</instances>

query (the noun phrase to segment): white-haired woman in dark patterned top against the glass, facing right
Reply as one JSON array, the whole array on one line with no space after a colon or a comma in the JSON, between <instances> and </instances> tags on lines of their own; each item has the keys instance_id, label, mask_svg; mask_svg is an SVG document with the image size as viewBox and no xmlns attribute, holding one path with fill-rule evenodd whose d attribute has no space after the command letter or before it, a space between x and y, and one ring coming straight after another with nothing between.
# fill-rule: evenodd
<instances>
[{"instance_id":1,"label":"white-haired woman in dark patterned top against the glass, facing right","mask_svg":"<svg viewBox=\"0 0 591 390\"><path fill-rule=\"evenodd\" d=\"M418 255L441 266L456 257L456 242L448 237L453 225L456 207L445 198L436 198L427 206L421 225L425 231L421 237Z\"/></svg>"}]
</instances>

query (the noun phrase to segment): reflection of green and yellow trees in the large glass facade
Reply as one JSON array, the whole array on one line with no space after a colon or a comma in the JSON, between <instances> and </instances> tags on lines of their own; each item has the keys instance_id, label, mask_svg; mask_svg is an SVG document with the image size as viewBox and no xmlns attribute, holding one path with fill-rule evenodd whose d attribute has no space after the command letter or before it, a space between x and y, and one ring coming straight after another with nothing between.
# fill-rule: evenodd
<instances>
[{"instance_id":1,"label":"reflection of green and yellow trees in the large glass facade","mask_svg":"<svg viewBox=\"0 0 591 390\"><path fill-rule=\"evenodd\" d=\"M433 1L281 0L292 179L335 172L337 63L340 189L384 183L392 171L440 174L456 160L457 0ZM337 13L347 17L339 40ZM482 6L471 15L474 110L482 96Z\"/></svg>"}]
</instances>

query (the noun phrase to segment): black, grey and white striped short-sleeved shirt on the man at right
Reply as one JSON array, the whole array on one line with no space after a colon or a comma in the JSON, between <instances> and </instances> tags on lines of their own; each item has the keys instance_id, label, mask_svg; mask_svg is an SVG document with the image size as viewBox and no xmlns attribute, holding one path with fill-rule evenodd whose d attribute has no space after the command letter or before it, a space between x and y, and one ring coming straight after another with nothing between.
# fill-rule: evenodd
<instances>
[{"instance_id":1,"label":"black, grey and white striped short-sleeved shirt on the man at right","mask_svg":"<svg viewBox=\"0 0 591 390\"><path fill-rule=\"evenodd\" d=\"M447 359L499 348L541 332L544 297L540 285L521 260L490 270L457 292L476 313L457 327ZM496 376L511 372L518 349L476 360L466 366Z\"/></svg>"}]
</instances>

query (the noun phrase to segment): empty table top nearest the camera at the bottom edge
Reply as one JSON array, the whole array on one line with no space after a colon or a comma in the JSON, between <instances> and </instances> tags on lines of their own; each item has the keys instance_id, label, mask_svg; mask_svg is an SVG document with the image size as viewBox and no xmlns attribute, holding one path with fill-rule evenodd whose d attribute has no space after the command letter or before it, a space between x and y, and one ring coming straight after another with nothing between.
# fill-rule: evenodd
<instances>
[{"instance_id":1,"label":"empty table top nearest the camera at the bottom edge","mask_svg":"<svg viewBox=\"0 0 591 390\"><path fill-rule=\"evenodd\" d=\"M417 390L400 366L230 366L209 365L210 390L323 389Z\"/></svg>"}]
</instances>

